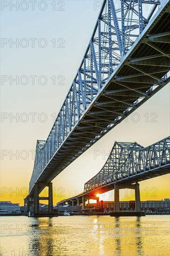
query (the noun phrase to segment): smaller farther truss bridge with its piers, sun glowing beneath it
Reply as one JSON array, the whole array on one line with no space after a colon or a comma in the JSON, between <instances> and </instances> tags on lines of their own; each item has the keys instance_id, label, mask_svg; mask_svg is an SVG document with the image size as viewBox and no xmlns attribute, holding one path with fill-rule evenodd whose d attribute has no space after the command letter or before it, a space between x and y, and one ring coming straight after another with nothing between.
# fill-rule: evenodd
<instances>
[{"instance_id":1,"label":"smaller farther truss bridge with its piers, sun glowing beneath it","mask_svg":"<svg viewBox=\"0 0 170 256\"><path fill-rule=\"evenodd\" d=\"M169 173L170 136L146 148L137 142L115 142L103 168L85 183L84 193L59 204L78 200L84 210L86 200L114 189L114 209L119 212L119 189L134 189L136 211L140 212L138 182Z\"/></svg>"}]
</instances>

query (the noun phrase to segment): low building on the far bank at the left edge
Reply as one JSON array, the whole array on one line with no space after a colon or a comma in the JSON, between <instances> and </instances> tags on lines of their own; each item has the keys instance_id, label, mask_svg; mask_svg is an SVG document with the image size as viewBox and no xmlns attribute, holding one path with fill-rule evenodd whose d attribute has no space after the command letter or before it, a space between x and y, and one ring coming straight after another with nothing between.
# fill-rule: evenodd
<instances>
[{"instance_id":1,"label":"low building on the far bank at the left edge","mask_svg":"<svg viewBox=\"0 0 170 256\"><path fill-rule=\"evenodd\" d=\"M0 201L0 213L20 213L19 203Z\"/></svg>"}]
</instances>

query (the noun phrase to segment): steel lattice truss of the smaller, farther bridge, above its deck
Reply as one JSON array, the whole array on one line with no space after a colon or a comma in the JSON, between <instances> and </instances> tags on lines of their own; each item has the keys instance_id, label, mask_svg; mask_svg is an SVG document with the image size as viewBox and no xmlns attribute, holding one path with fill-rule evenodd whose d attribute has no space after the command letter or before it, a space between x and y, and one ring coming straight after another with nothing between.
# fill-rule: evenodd
<instances>
[{"instance_id":1,"label":"steel lattice truss of the smaller, farther bridge, above its deck","mask_svg":"<svg viewBox=\"0 0 170 256\"><path fill-rule=\"evenodd\" d=\"M148 172L157 169L161 169L161 172L156 172L154 175L163 175L163 168L167 173L168 167L168 172L170 172L170 136L147 148L136 142L115 142L104 167L85 183L84 192L87 193L115 182L130 182L136 175L144 174L146 179L150 176Z\"/></svg>"}]
</instances>

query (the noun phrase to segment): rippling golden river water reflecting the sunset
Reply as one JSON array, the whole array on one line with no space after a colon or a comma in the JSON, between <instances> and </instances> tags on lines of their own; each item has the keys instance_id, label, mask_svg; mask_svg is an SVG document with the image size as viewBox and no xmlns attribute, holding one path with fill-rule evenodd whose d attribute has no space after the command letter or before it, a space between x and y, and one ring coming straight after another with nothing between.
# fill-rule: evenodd
<instances>
[{"instance_id":1,"label":"rippling golden river water reflecting the sunset","mask_svg":"<svg viewBox=\"0 0 170 256\"><path fill-rule=\"evenodd\" d=\"M170 216L0 217L0 256L169 256Z\"/></svg>"}]
</instances>

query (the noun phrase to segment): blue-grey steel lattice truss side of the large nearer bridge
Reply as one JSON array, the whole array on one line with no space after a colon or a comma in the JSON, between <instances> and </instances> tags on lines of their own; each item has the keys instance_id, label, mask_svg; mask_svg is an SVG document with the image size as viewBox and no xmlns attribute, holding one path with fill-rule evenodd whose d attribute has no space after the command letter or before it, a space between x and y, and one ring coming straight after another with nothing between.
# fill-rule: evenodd
<instances>
[{"instance_id":1,"label":"blue-grey steel lattice truss side of the large nearer bridge","mask_svg":"<svg viewBox=\"0 0 170 256\"><path fill-rule=\"evenodd\" d=\"M39 147L37 142L30 190L159 6L159 0L104 0L83 60L50 134L43 146Z\"/></svg>"}]
</instances>

